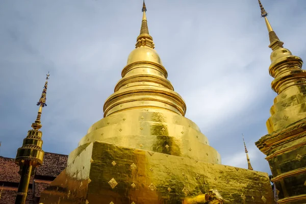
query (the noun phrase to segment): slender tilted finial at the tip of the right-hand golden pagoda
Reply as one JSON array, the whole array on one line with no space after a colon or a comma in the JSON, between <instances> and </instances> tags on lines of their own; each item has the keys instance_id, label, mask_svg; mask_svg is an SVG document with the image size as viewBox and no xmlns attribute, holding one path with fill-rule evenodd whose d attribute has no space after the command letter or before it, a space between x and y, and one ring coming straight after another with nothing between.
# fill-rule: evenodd
<instances>
[{"instance_id":1,"label":"slender tilted finial at the tip of the right-hand golden pagoda","mask_svg":"<svg viewBox=\"0 0 306 204\"><path fill-rule=\"evenodd\" d=\"M259 6L260 6L260 10L261 10L261 16L265 18L266 21L266 25L267 25L267 29L269 32L269 39L270 39L270 45L269 47L274 51L275 49L278 48L282 48L284 45L284 42L282 42L281 40L279 40L279 38L277 37L276 33L273 31L270 22L268 21L267 15L268 13L266 12L266 10L264 9L262 3L260 0L258 0Z\"/></svg>"}]
</instances>

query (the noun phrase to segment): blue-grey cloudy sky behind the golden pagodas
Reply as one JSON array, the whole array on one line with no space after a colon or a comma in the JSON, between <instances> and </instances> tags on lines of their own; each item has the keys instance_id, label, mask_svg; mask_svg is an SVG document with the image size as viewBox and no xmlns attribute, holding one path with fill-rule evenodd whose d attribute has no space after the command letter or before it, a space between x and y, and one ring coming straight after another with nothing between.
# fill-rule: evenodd
<instances>
[{"instance_id":1,"label":"blue-grey cloudy sky behind the golden pagodas","mask_svg":"<svg viewBox=\"0 0 306 204\"><path fill-rule=\"evenodd\" d=\"M284 46L306 59L306 1L262 0ZM147 0L168 79L222 163L270 172L254 144L267 134L276 94L271 50L256 0ZM141 0L0 1L0 155L14 158L31 129L50 71L43 149L69 154L121 78L141 25Z\"/></svg>"}]
</instances>

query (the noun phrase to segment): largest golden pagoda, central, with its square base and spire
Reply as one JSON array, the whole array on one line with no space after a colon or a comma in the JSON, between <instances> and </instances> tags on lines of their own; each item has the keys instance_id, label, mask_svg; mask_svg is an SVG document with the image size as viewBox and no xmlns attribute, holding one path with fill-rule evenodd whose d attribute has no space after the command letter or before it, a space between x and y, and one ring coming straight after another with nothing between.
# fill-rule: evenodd
<instances>
[{"instance_id":1,"label":"largest golden pagoda, central, with its square base and spire","mask_svg":"<svg viewBox=\"0 0 306 204\"><path fill-rule=\"evenodd\" d=\"M221 164L167 80L143 3L136 48L122 78L41 194L53 203L273 203L267 173Z\"/></svg>"}]
</instances>

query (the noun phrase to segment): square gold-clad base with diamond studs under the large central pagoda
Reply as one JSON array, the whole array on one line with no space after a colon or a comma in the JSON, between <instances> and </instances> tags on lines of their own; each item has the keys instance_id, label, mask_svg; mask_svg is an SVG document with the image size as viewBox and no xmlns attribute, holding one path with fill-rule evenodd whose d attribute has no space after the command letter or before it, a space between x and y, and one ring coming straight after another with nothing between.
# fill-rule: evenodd
<instances>
[{"instance_id":1,"label":"square gold-clad base with diamond studs under the large central pagoda","mask_svg":"<svg viewBox=\"0 0 306 204\"><path fill-rule=\"evenodd\" d=\"M40 201L182 203L209 189L228 203L273 203L267 173L96 141L75 149Z\"/></svg>"}]
</instances>

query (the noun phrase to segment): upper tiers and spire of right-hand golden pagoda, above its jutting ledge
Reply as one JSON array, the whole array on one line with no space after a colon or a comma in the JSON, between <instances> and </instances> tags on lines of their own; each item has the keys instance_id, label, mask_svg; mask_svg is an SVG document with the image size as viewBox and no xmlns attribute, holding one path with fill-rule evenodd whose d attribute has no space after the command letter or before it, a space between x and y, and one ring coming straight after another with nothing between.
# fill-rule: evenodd
<instances>
[{"instance_id":1,"label":"upper tiers and spire of right-hand golden pagoda, above its jutting ledge","mask_svg":"<svg viewBox=\"0 0 306 204\"><path fill-rule=\"evenodd\" d=\"M284 42L280 41L273 31L267 19L268 13L260 0L259 5L269 32L269 47L272 48L269 73L274 80L271 87L278 94L270 109L271 117L267 121L268 133L272 133L306 117L303 100L298 99L306 88L306 72L301 69L302 59L293 56L289 49L283 47Z\"/></svg>"}]
</instances>

